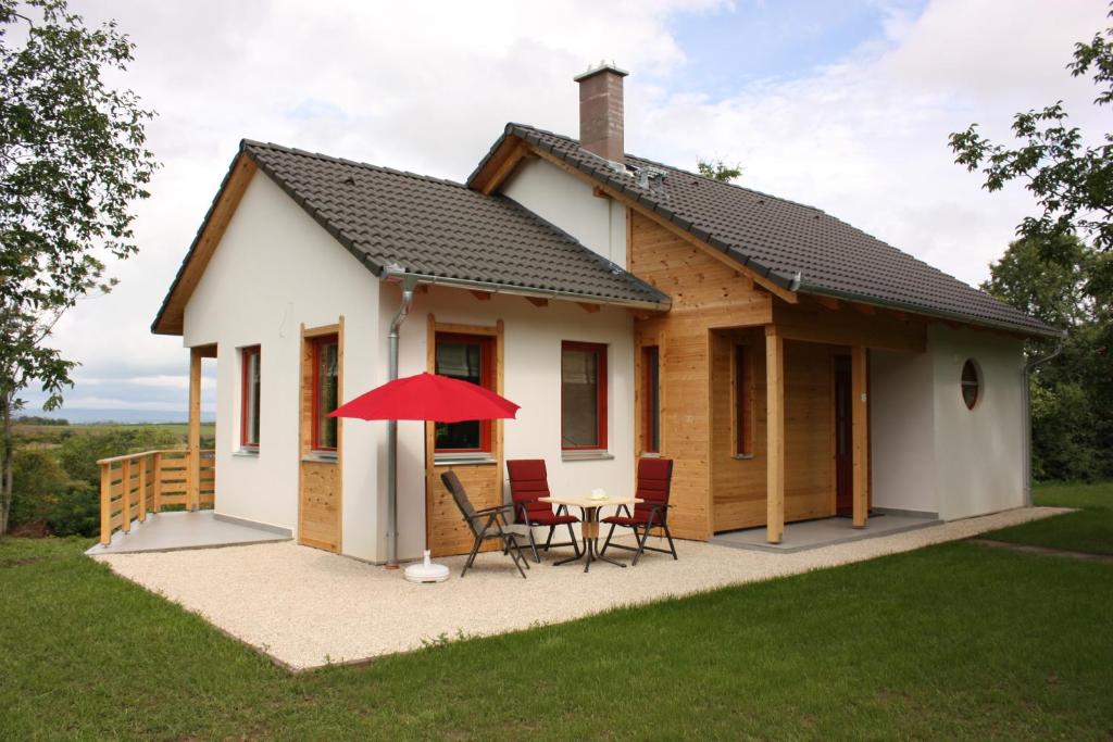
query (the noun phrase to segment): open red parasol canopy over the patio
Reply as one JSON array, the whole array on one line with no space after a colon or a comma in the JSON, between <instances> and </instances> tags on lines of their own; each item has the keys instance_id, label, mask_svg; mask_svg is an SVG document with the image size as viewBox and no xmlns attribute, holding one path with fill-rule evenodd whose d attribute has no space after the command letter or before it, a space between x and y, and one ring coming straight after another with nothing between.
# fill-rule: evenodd
<instances>
[{"instance_id":1,"label":"open red parasol canopy over the patio","mask_svg":"<svg viewBox=\"0 0 1113 742\"><path fill-rule=\"evenodd\" d=\"M475 384L424 373L387 382L328 416L460 423L514 417L518 409L519 405Z\"/></svg>"}]
</instances>

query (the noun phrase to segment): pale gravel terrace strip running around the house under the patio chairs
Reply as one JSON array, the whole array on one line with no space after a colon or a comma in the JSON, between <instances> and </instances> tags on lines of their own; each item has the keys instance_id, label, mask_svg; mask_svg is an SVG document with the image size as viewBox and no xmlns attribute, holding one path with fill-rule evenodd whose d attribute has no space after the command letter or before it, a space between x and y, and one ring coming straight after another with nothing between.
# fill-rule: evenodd
<instances>
[{"instance_id":1,"label":"pale gravel terrace strip running around the house under the patio chairs","mask_svg":"<svg viewBox=\"0 0 1113 742\"><path fill-rule=\"evenodd\" d=\"M502 634L859 562L1065 512L1070 511L1021 508L789 554L678 541L678 562L648 554L637 567L595 564L589 574L575 564L552 566L569 553L553 550L542 564L533 564L526 580L500 553L481 554L475 568L461 578L464 557L454 556L437 560L450 566L452 576L432 585L415 585L401 572L293 542L95 558L279 664L306 670L416 650L442 635ZM629 561L629 553L614 555Z\"/></svg>"}]
</instances>

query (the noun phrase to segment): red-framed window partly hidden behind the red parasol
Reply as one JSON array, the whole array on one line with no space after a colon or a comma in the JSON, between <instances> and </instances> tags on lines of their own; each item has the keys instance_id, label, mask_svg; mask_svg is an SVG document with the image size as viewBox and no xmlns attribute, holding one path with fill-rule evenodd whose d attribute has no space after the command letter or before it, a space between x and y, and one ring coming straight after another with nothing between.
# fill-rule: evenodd
<instances>
[{"instance_id":1,"label":"red-framed window partly hidden behind the red parasol","mask_svg":"<svg viewBox=\"0 0 1113 742\"><path fill-rule=\"evenodd\" d=\"M494 343L489 335L436 334L436 374L494 390ZM436 424L435 453L491 453L491 421Z\"/></svg>"}]
</instances>

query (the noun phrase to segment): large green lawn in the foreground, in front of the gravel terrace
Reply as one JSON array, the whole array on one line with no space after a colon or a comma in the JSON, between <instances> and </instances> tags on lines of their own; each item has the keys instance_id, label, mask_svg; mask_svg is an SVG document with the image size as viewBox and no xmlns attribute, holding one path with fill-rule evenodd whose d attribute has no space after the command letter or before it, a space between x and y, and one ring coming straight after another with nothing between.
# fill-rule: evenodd
<instances>
[{"instance_id":1,"label":"large green lawn in the foreground, in front of the gravel terrace","mask_svg":"<svg viewBox=\"0 0 1113 742\"><path fill-rule=\"evenodd\" d=\"M1107 740L1113 730L1104 563L944 544L290 675L115 577L83 546L0 541L0 739Z\"/></svg>"}]
</instances>

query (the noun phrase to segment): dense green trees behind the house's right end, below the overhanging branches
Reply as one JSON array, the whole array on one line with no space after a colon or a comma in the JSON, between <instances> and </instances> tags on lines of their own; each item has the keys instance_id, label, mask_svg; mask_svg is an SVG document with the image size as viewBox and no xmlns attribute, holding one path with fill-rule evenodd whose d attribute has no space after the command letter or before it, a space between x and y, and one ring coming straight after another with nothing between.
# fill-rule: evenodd
<instances>
[{"instance_id":1,"label":"dense green trees behind the house's right end, below the overhanging branches","mask_svg":"<svg viewBox=\"0 0 1113 742\"><path fill-rule=\"evenodd\" d=\"M989 267L982 288L1067 330L1051 363L1033 372L1032 472L1037 479L1113 476L1113 324L1109 296L1093 296L1093 275L1113 255L1072 235L1054 245L1024 238ZM1050 258L1047 256L1054 256ZM1031 344L1030 355L1048 348Z\"/></svg>"}]
</instances>

